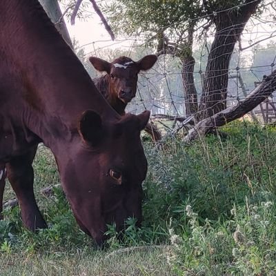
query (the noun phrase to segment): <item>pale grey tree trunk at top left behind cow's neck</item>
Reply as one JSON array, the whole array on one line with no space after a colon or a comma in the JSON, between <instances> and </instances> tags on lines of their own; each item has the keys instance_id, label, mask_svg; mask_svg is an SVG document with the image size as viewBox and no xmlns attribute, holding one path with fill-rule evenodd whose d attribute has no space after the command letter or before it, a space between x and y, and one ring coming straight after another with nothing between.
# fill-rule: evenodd
<instances>
[{"instance_id":1,"label":"pale grey tree trunk at top left behind cow's neck","mask_svg":"<svg viewBox=\"0 0 276 276\"><path fill-rule=\"evenodd\" d=\"M55 24L55 27L62 35L63 39L68 43L68 45L73 48L72 41L70 39L69 32L66 28L66 23L62 17L61 9L59 8L59 3L57 0L39 0L41 6L48 14L48 17L51 19L52 23Z\"/></svg>"}]
</instances>

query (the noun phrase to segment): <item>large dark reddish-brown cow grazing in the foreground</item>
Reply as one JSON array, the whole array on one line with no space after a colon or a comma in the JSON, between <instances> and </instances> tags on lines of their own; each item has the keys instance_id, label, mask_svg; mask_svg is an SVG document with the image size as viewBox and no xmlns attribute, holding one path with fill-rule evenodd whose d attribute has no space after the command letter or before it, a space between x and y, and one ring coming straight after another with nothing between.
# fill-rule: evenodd
<instances>
[{"instance_id":1,"label":"large dark reddish-brown cow grazing in the foreground","mask_svg":"<svg viewBox=\"0 0 276 276\"><path fill-rule=\"evenodd\" d=\"M1 0L0 26L0 169L6 165L25 226L47 226L33 192L39 142L54 153L77 222L97 244L106 224L141 221L140 132L150 112L119 116L37 0Z\"/></svg>"}]
</instances>

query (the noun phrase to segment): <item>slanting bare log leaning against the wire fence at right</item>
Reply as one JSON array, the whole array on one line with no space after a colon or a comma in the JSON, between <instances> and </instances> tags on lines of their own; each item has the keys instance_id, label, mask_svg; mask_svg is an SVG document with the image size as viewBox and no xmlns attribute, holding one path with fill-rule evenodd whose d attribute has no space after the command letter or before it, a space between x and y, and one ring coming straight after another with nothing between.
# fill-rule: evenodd
<instances>
[{"instance_id":1,"label":"slanting bare log leaning against the wire fence at right","mask_svg":"<svg viewBox=\"0 0 276 276\"><path fill-rule=\"evenodd\" d=\"M253 110L259 103L262 103L267 97L269 97L276 90L276 70L271 75L265 77L262 83L257 86L246 99L239 101L235 106L230 106L221 112L208 117L199 123L188 132L188 135L184 137L184 142L190 142L193 139L201 135L206 135L213 128L223 126L235 119L238 119L246 113Z\"/></svg>"}]
</instances>

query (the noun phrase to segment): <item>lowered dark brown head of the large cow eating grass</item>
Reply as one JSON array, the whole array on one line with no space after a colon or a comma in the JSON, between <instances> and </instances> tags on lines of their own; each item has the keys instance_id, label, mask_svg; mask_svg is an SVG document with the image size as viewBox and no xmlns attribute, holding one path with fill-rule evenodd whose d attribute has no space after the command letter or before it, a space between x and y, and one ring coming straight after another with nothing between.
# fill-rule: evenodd
<instances>
[{"instance_id":1,"label":"lowered dark brown head of the large cow eating grass","mask_svg":"<svg viewBox=\"0 0 276 276\"><path fill-rule=\"evenodd\" d=\"M77 222L97 244L105 239L106 224L115 223L121 230L128 217L141 221L147 161L140 132L149 115L148 111L127 114L112 122L87 110L79 120L75 146L58 157L61 181Z\"/></svg>"}]
</instances>

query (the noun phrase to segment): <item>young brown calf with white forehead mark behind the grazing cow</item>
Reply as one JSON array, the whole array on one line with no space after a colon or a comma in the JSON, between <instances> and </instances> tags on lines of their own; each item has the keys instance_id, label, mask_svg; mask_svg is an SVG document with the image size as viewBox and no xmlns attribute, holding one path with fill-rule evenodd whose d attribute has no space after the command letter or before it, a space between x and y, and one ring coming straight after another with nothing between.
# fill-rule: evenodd
<instances>
[{"instance_id":1,"label":"young brown calf with white forehead mark behind the grazing cow","mask_svg":"<svg viewBox=\"0 0 276 276\"><path fill-rule=\"evenodd\" d=\"M135 97L139 72L149 70L157 61L156 55L147 55L139 61L132 61L129 57L119 57L111 63L99 57L90 57L92 66L106 75L93 79L99 92L108 100L110 106L119 115L125 115L127 104ZM145 128L154 141L159 141L161 135L152 124Z\"/></svg>"}]
</instances>

